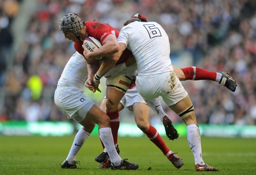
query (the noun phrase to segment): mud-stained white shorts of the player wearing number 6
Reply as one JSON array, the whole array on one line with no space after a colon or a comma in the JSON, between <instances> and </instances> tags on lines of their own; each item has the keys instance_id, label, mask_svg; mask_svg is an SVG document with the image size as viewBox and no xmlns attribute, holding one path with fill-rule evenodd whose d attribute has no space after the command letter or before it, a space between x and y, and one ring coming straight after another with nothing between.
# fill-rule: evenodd
<instances>
[{"instance_id":1,"label":"mud-stained white shorts of the player wearing number 6","mask_svg":"<svg viewBox=\"0 0 256 175\"><path fill-rule=\"evenodd\" d=\"M162 96L168 106L180 102L188 95L174 71L147 76L139 74L136 87L143 98L154 100Z\"/></svg>"}]
</instances>

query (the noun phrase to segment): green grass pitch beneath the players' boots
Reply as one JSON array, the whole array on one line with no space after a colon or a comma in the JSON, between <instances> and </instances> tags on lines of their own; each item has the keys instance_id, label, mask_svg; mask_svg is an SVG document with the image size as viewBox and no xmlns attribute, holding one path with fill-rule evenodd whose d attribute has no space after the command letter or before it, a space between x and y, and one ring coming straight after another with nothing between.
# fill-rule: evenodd
<instances>
[{"instance_id":1,"label":"green grass pitch beneath the players' boots","mask_svg":"<svg viewBox=\"0 0 256 175\"><path fill-rule=\"evenodd\" d=\"M0 135L0 174L256 174L256 139L202 137L204 161L219 172L196 172L193 154L186 137L169 141L172 151L182 158L184 166L171 162L147 137L120 137L120 156L140 165L136 171L97 169L95 156L102 152L99 137L92 136L77 155L79 169L61 169L74 135L65 137ZM148 171L148 168L151 170Z\"/></svg>"}]
</instances>

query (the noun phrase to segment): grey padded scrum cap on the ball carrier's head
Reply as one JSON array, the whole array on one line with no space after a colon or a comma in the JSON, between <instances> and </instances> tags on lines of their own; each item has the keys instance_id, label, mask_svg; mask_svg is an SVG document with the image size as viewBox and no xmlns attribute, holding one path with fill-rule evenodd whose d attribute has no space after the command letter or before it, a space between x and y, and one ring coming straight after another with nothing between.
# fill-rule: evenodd
<instances>
[{"instance_id":1,"label":"grey padded scrum cap on the ball carrier's head","mask_svg":"<svg viewBox=\"0 0 256 175\"><path fill-rule=\"evenodd\" d=\"M76 13L68 13L60 20L60 30L70 31L76 36L83 28L83 21L78 17Z\"/></svg>"}]
</instances>

